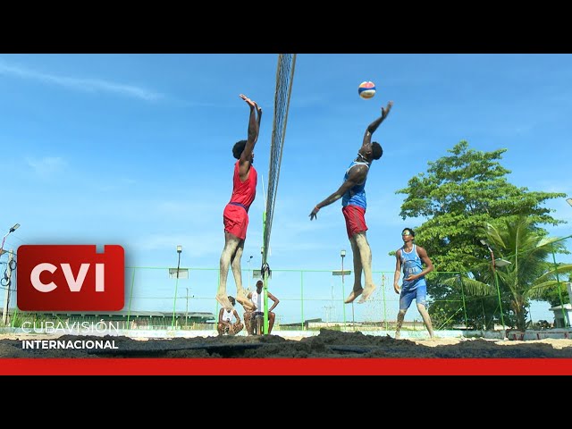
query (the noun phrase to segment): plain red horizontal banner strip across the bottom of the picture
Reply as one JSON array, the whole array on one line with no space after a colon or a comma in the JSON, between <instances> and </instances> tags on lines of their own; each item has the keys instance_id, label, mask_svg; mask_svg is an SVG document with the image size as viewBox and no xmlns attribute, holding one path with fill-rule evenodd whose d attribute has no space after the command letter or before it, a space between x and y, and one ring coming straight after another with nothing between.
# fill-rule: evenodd
<instances>
[{"instance_id":1,"label":"plain red horizontal banner strip across the bottom of the picture","mask_svg":"<svg viewBox=\"0 0 572 429\"><path fill-rule=\"evenodd\" d=\"M0 375L572 375L568 358L5 358Z\"/></svg>"}]
</instances>

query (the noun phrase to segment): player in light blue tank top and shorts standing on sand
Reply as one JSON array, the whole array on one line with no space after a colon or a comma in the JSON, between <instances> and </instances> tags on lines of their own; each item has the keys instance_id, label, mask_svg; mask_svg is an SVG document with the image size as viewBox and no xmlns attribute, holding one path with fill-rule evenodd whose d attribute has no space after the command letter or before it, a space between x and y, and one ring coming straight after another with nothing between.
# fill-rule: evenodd
<instances>
[{"instance_id":1,"label":"player in light blue tank top and shorts standing on sand","mask_svg":"<svg viewBox=\"0 0 572 429\"><path fill-rule=\"evenodd\" d=\"M417 310L423 317L425 328L427 328L429 336L433 339L433 325L431 324L431 317L427 312L427 283L425 282L425 274L433 271L433 263L427 256L425 248L417 246L413 242L415 240L415 231L411 228L405 228L401 231L401 239L403 240L403 246L395 253L395 273L393 274L393 289L395 293L400 294L400 312L397 315L395 338L400 338L403 318L411 302L415 299ZM423 263L425 263L425 269L423 269ZM400 288L401 271L403 271L403 283Z\"/></svg>"}]
</instances>

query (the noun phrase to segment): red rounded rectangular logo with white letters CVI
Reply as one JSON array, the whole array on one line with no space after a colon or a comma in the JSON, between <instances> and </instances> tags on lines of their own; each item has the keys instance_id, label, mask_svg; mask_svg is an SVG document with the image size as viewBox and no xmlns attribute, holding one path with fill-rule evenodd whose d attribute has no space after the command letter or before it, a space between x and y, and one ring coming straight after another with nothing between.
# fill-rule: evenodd
<instances>
[{"instance_id":1,"label":"red rounded rectangular logo with white letters CVI","mask_svg":"<svg viewBox=\"0 0 572 429\"><path fill-rule=\"evenodd\" d=\"M18 248L21 311L118 311L124 305L125 254L118 245Z\"/></svg>"}]
</instances>

